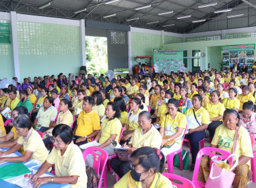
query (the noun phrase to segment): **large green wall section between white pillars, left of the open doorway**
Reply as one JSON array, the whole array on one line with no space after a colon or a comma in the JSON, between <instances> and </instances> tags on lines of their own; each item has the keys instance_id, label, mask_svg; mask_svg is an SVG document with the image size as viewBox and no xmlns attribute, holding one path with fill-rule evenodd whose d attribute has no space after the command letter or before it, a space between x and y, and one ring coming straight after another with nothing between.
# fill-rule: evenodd
<instances>
[{"instance_id":1,"label":"large green wall section between white pillars, left of the open doorway","mask_svg":"<svg viewBox=\"0 0 256 188\"><path fill-rule=\"evenodd\" d=\"M77 73L79 27L18 21L20 77Z\"/></svg>"}]
</instances>

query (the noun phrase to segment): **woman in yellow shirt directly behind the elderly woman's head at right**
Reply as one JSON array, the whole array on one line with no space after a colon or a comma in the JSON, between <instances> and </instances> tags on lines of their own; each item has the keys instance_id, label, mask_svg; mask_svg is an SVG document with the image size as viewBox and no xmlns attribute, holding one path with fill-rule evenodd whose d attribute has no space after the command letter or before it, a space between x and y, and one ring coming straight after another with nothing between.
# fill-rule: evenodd
<instances>
[{"instance_id":1,"label":"woman in yellow shirt directly behind the elderly woman's head at right","mask_svg":"<svg viewBox=\"0 0 256 188\"><path fill-rule=\"evenodd\" d=\"M240 107L240 101L236 99L237 91L234 87L228 89L229 98L225 98L222 104L226 109L234 109L238 111Z\"/></svg>"}]
</instances>

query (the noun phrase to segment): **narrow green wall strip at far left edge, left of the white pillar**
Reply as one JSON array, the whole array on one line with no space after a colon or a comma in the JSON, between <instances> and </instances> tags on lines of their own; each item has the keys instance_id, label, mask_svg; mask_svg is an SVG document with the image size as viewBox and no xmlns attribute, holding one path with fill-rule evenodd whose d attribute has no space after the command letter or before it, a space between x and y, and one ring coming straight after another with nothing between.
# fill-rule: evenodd
<instances>
[{"instance_id":1,"label":"narrow green wall strip at far left edge, left of the white pillar","mask_svg":"<svg viewBox=\"0 0 256 188\"><path fill-rule=\"evenodd\" d=\"M9 23L9 20L0 20L1 23ZM14 76L11 44L0 44L0 79Z\"/></svg>"}]
</instances>

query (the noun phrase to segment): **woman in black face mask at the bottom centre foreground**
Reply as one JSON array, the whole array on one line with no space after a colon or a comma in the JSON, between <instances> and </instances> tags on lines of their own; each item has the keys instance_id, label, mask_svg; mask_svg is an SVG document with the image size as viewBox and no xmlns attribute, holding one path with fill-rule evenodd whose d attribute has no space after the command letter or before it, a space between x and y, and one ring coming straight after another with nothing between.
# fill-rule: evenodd
<instances>
[{"instance_id":1,"label":"woman in black face mask at the bottom centre foreground","mask_svg":"<svg viewBox=\"0 0 256 188\"><path fill-rule=\"evenodd\" d=\"M138 148L131 154L132 169L122 177L114 188L123 187L172 187L169 179L161 173L164 155L158 148Z\"/></svg>"}]
</instances>

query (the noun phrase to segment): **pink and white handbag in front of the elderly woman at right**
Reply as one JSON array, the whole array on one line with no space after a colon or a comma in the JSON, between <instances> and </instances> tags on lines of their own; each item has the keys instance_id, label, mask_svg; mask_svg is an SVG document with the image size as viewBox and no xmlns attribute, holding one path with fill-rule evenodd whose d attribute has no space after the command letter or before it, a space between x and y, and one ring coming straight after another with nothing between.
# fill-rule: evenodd
<instances>
[{"instance_id":1,"label":"pink and white handbag in front of the elderly woman at right","mask_svg":"<svg viewBox=\"0 0 256 188\"><path fill-rule=\"evenodd\" d=\"M227 164L228 158L236 156L236 162L234 165L229 169L229 164ZM214 160L214 157L212 157L213 162L212 168L210 171L210 175L206 181L205 188L216 188L216 187L231 187L232 183L234 181L234 177L236 176L232 171L234 168L238 165L238 155L237 154L230 154L226 160ZM229 166L229 167L228 167Z\"/></svg>"}]
</instances>

